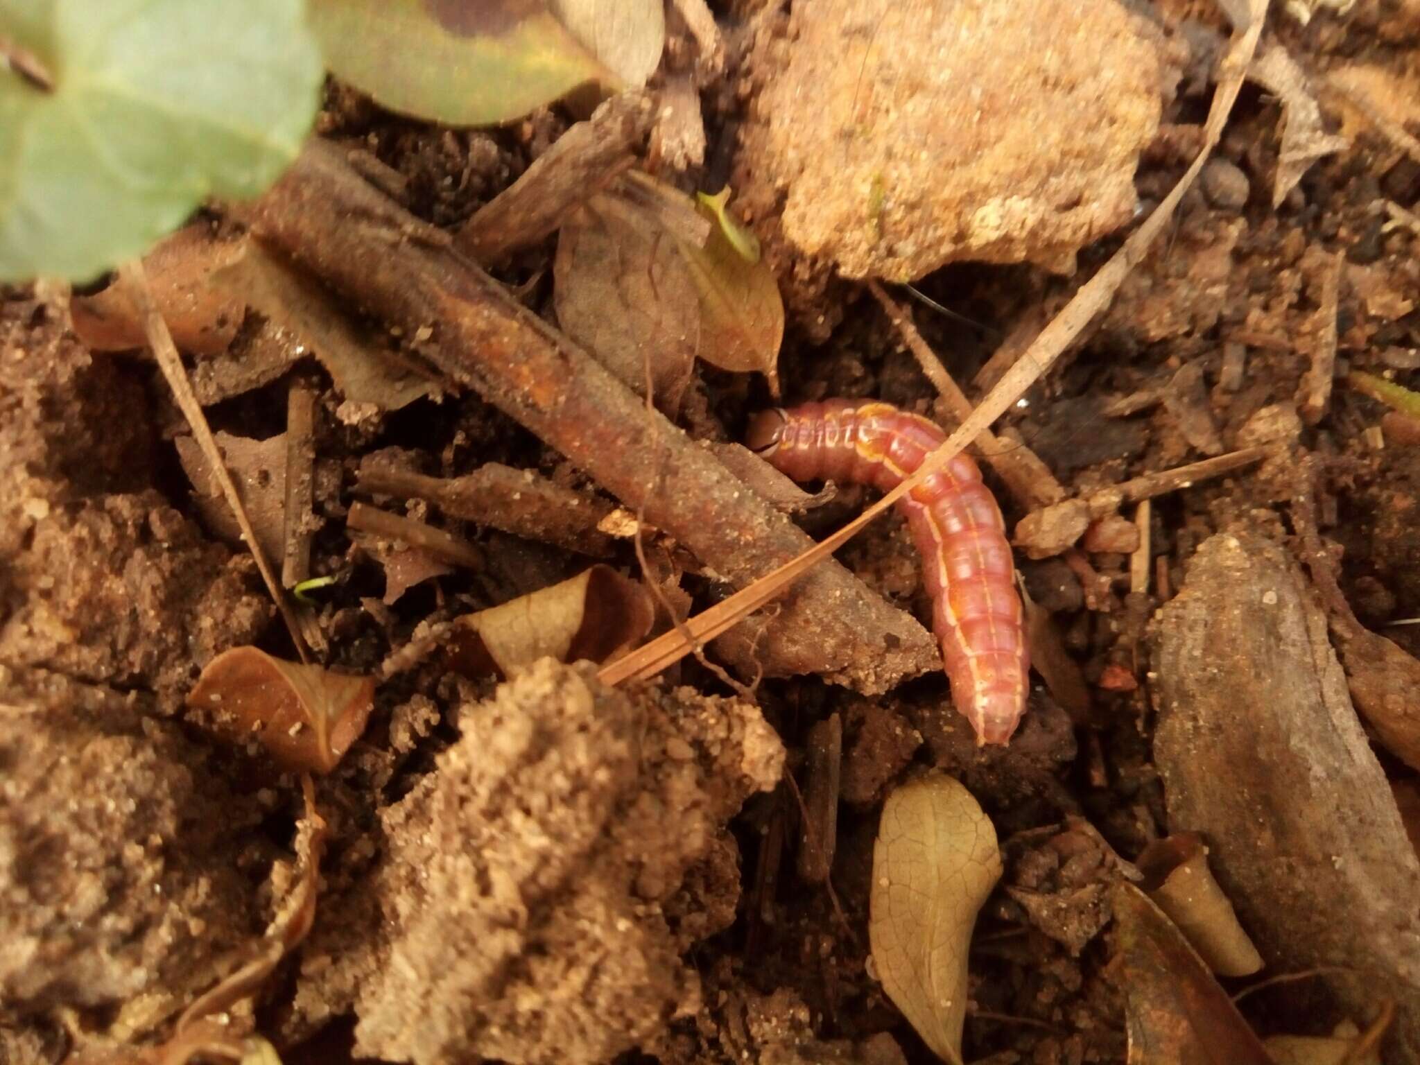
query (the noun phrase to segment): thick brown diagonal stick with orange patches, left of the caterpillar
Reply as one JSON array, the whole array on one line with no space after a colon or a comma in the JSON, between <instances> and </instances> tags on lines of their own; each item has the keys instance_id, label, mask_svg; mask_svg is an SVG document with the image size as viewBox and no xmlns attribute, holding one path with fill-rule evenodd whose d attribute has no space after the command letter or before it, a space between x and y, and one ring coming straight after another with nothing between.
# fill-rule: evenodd
<instances>
[{"instance_id":1,"label":"thick brown diagonal stick with orange patches, left of the caterpillar","mask_svg":"<svg viewBox=\"0 0 1420 1065\"><path fill-rule=\"evenodd\" d=\"M744 586L811 547L585 352L518 305L452 241L314 142L250 210L258 233L406 335L452 381L542 437L710 569ZM805 574L777 619L734 652L753 673L822 673L875 694L940 665L914 619L836 562ZM734 653L731 652L731 653Z\"/></svg>"}]
</instances>

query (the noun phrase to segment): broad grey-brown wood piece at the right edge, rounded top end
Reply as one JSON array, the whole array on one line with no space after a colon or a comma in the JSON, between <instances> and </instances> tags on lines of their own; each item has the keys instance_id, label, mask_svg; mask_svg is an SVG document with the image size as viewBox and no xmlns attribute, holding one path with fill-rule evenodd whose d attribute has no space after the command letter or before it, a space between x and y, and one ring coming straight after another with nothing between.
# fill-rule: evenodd
<instances>
[{"instance_id":1,"label":"broad grey-brown wood piece at the right edge, rounded top end","mask_svg":"<svg viewBox=\"0 0 1420 1065\"><path fill-rule=\"evenodd\" d=\"M1420 862L1346 677L1288 554L1220 534L1156 629L1154 760L1173 829L1214 873L1264 958L1369 1015L1396 1000L1387 1062L1420 1062Z\"/></svg>"}]
</instances>

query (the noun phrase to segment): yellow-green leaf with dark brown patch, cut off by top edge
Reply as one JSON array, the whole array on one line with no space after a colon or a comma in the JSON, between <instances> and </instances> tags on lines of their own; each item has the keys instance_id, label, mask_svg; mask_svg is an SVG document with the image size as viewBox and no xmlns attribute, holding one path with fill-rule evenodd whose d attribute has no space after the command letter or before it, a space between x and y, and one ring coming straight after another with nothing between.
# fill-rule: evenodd
<instances>
[{"instance_id":1,"label":"yellow-green leaf with dark brown patch, cut off by top edge","mask_svg":"<svg viewBox=\"0 0 1420 1065\"><path fill-rule=\"evenodd\" d=\"M662 0L311 0L331 70L378 104L449 125L521 118L586 82L640 85Z\"/></svg>"}]
</instances>

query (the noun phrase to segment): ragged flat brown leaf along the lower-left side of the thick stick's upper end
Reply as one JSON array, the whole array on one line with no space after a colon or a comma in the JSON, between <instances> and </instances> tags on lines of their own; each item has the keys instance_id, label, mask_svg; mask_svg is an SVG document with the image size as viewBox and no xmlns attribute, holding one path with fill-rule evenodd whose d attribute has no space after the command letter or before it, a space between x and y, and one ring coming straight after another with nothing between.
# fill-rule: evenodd
<instances>
[{"instance_id":1,"label":"ragged flat brown leaf along the lower-left side of the thick stick's upper end","mask_svg":"<svg viewBox=\"0 0 1420 1065\"><path fill-rule=\"evenodd\" d=\"M311 349L341 395L382 410L399 410L439 386L396 362L396 356L364 335L320 285L253 240L212 275L212 283L243 300Z\"/></svg>"}]
</instances>

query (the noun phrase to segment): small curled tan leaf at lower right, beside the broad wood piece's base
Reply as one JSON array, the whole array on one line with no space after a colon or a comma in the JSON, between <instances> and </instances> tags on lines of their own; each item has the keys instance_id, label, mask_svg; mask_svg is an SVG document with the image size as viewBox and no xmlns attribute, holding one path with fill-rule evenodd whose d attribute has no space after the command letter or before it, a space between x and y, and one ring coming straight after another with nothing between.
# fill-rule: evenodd
<instances>
[{"instance_id":1,"label":"small curled tan leaf at lower right, beside the broad wood piece's base","mask_svg":"<svg viewBox=\"0 0 1420 1065\"><path fill-rule=\"evenodd\" d=\"M1233 903L1208 869L1208 848L1197 832L1157 839L1139 855L1143 889L1218 976L1252 976L1262 956L1238 924Z\"/></svg>"}]
</instances>

